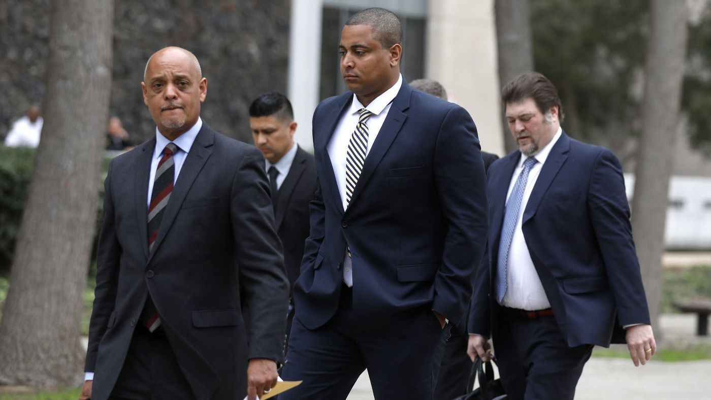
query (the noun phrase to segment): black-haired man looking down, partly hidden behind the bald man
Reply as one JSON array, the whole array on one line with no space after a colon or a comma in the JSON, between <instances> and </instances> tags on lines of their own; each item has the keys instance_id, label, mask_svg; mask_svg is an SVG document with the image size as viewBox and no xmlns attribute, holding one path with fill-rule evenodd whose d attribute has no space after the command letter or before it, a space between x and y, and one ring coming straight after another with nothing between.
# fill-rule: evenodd
<instances>
[{"instance_id":1,"label":"black-haired man looking down, partly hidden behind the bald man","mask_svg":"<svg viewBox=\"0 0 711 400\"><path fill-rule=\"evenodd\" d=\"M264 171L272 188L277 234L284 247L289 287L293 287L299 277L304 242L309 237L309 202L316 192L316 161L294 143L294 111L284 94L267 92L252 102L250 129L255 145L266 158ZM289 301L287 338L293 318L294 303Z\"/></svg>"}]
</instances>

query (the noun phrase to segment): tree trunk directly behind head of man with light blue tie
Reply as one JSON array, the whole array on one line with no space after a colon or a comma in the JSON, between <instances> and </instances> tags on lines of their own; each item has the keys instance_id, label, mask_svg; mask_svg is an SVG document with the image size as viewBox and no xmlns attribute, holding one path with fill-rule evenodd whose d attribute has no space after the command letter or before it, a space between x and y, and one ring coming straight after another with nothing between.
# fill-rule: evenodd
<instances>
[{"instance_id":1,"label":"tree trunk directly behind head of man with light blue tie","mask_svg":"<svg viewBox=\"0 0 711 400\"><path fill-rule=\"evenodd\" d=\"M504 87L510 80L533 71L533 38L528 0L494 0L496 43L498 47L498 80ZM503 120L506 153L518 148Z\"/></svg>"}]
</instances>

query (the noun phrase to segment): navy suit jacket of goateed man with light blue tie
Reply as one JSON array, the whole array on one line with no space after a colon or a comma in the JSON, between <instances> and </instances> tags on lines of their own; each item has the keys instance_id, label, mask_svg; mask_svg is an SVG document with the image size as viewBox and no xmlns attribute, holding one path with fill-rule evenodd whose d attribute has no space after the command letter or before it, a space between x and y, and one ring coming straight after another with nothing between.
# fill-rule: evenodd
<instances>
[{"instance_id":1,"label":"navy suit jacket of goateed man with light blue tie","mask_svg":"<svg viewBox=\"0 0 711 400\"><path fill-rule=\"evenodd\" d=\"M495 342L492 277L506 193L519 160L520 152L514 151L488 171L491 267L483 268L478 279L469 333L488 335L493 329ZM571 347L624 342L623 325L649 323L629 217L617 158L564 132L538 175L522 229L556 323Z\"/></svg>"}]
</instances>

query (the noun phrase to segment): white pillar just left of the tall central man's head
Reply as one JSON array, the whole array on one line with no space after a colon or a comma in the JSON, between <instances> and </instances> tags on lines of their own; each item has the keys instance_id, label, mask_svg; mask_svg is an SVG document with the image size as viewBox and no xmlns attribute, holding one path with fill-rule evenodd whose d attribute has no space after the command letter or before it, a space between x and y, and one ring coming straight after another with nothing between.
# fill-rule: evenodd
<instances>
[{"instance_id":1,"label":"white pillar just left of the tall central man's head","mask_svg":"<svg viewBox=\"0 0 711 400\"><path fill-rule=\"evenodd\" d=\"M292 0L287 96L299 124L294 139L307 151L314 148L311 118L319 104L322 0Z\"/></svg>"}]
</instances>

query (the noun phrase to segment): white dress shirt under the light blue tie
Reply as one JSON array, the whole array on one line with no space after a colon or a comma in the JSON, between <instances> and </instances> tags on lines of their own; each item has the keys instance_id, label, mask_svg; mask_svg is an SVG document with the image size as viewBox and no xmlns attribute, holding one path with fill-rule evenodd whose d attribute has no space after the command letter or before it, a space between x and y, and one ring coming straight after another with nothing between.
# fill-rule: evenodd
<instances>
[{"instance_id":1,"label":"white dress shirt under the light blue tie","mask_svg":"<svg viewBox=\"0 0 711 400\"><path fill-rule=\"evenodd\" d=\"M521 221L523 220L523 212L528 204L528 198L535 186L535 181L538 180L540 170L543 168L548 154L550 154L550 149L553 148L555 142L560 139L561 134L562 129L559 127L553 139L533 156L538 162L533 164L533 167L528 173L528 181L526 181L526 188L523 191L521 207L518 210L518 219L513 229L513 239L511 239L511 247L508 250L508 259L506 262L507 288L506 295L503 296L503 301L501 302L502 306L520 308L522 310L542 310L544 308L550 308L548 297L545 295L543 286L540 283L540 278L538 277L538 272L536 272L535 266L533 266L533 260L528 252L528 247L526 247L526 239L523 237L523 230L521 230ZM518 178L518 175L523 170L523 162L526 158L528 158L528 156L521 154L518 166L516 166L513 171L511 182L508 185L508 194L506 195L507 202L513 190L516 178Z\"/></svg>"}]
</instances>

